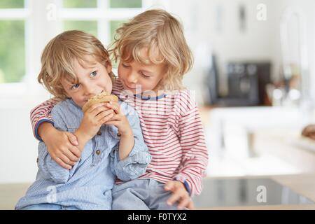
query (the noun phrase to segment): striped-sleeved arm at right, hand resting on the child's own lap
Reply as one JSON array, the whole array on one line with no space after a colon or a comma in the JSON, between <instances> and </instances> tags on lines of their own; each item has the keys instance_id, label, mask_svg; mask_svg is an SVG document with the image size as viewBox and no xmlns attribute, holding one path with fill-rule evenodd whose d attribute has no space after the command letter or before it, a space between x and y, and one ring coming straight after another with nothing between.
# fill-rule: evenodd
<instances>
[{"instance_id":1,"label":"striped-sleeved arm at right, hand resting on the child's own lap","mask_svg":"<svg viewBox=\"0 0 315 224\"><path fill-rule=\"evenodd\" d=\"M174 181L169 181L165 185L165 190L173 192L167 202L173 204L178 201L179 209L183 207L193 208L193 202L189 196L201 193L202 178L208 164L208 151L200 113L193 102L189 104L189 109L181 114L177 130L183 150L179 174L175 176ZM194 106L191 106L192 104Z\"/></svg>"}]
</instances>

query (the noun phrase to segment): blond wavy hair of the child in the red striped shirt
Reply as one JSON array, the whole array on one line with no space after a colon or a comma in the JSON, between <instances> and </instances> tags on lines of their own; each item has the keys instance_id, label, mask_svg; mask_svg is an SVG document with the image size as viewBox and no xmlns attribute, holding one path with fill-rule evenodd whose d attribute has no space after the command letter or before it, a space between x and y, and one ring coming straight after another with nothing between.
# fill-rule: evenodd
<instances>
[{"instance_id":1,"label":"blond wavy hair of the child in the red striped shirt","mask_svg":"<svg viewBox=\"0 0 315 224\"><path fill-rule=\"evenodd\" d=\"M141 49L147 48L148 59L141 57ZM153 57L158 49L159 57ZM161 90L183 89L183 75L193 66L193 54L186 43L179 20L165 10L146 10L116 30L110 53L117 62L133 60L141 64L163 64L166 76L162 78Z\"/></svg>"}]
</instances>

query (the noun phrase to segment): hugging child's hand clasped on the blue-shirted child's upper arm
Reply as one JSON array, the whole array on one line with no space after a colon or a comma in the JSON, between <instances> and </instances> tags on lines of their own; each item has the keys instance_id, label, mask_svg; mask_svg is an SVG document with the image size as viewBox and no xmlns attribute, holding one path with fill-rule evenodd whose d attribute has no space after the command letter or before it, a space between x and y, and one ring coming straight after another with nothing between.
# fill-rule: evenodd
<instances>
[{"instance_id":1,"label":"hugging child's hand clasped on the blue-shirted child's upper arm","mask_svg":"<svg viewBox=\"0 0 315 224\"><path fill-rule=\"evenodd\" d=\"M71 132L60 132L54 127L50 130L49 138L43 138L43 141L52 160L55 160L64 169L71 169L81 156L76 146L78 145L76 136Z\"/></svg>"}]
</instances>

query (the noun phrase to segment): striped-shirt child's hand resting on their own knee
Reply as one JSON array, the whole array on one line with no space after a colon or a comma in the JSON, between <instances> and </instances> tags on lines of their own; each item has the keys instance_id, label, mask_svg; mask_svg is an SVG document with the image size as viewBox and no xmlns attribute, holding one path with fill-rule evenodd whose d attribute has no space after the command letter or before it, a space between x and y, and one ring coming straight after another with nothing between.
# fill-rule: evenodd
<instances>
[{"instance_id":1,"label":"striped-shirt child's hand resting on their own knee","mask_svg":"<svg viewBox=\"0 0 315 224\"><path fill-rule=\"evenodd\" d=\"M164 188L165 190L171 190L173 192L172 196L167 200L167 204L172 205L174 202L179 202L178 209L194 209L193 201L181 181L169 181L165 183Z\"/></svg>"}]
</instances>

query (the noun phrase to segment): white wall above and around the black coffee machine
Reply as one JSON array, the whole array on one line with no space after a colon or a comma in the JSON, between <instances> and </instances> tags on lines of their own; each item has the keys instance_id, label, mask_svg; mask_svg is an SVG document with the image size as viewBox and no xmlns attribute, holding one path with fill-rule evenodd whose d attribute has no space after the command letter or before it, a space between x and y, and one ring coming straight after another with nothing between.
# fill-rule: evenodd
<instances>
[{"instance_id":1,"label":"white wall above and around the black coffee machine","mask_svg":"<svg viewBox=\"0 0 315 224\"><path fill-rule=\"evenodd\" d=\"M259 21L256 17L257 6L260 3L267 6L266 21ZM205 76L202 66L207 65L207 59L202 56L207 55L209 51L218 56L223 91L226 90L226 86L222 84L225 83L226 78L225 65L229 61L271 60L272 78L279 80L281 78L280 20L287 6L297 6L306 15L311 83L314 83L312 81L314 78L314 3L312 0L198 0L185 1L185 7L179 7L182 1L169 1L167 9L182 19L188 43L195 53L194 69L184 78L186 85L196 90L197 96L202 95L200 87ZM245 32L239 30L238 6L240 4L246 6ZM218 7L221 8L221 29L217 29L216 22ZM200 98L197 98L197 102L202 103Z\"/></svg>"}]
</instances>

